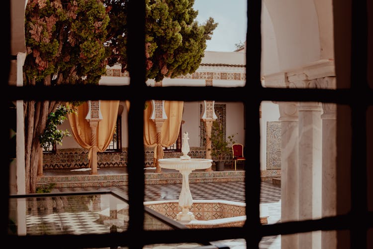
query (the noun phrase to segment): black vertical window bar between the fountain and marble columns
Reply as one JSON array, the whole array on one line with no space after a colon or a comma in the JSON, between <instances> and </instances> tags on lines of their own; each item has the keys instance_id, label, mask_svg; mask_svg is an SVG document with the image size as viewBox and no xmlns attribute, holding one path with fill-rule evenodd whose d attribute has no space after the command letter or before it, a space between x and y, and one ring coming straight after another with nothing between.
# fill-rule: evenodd
<instances>
[{"instance_id":1,"label":"black vertical window bar between the fountain and marble columns","mask_svg":"<svg viewBox=\"0 0 373 249\"><path fill-rule=\"evenodd\" d=\"M246 48L246 84L245 93L248 96L244 100L245 123L250 125L250 133L245 132L245 144L253 144L250 146L251 156L245 153L246 158L251 158L250 162L245 161L245 170L250 168L250 174L245 174L245 202L246 205L246 223L244 229L251 231L247 233L246 248L259 248L261 241L260 234L260 192L261 192L261 178L260 178L260 116L259 107L262 101L262 96L258 95L258 89L261 85L261 13L262 1L247 1L247 48ZM249 35L250 32L250 35ZM248 84L248 82L252 84ZM249 90L250 88L250 90ZM240 91L240 90L237 90ZM250 122L248 118L254 117L256 122ZM250 201L248 201L250 200ZM243 231L245 232L245 231ZM249 237L250 236L250 237Z\"/></svg>"}]
</instances>

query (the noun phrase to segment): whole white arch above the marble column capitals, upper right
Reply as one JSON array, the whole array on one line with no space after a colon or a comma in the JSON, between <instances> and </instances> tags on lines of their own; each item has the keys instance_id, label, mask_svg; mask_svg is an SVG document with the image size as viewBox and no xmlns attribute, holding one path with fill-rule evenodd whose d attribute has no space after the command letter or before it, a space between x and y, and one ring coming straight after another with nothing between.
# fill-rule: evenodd
<instances>
[{"instance_id":1,"label":"whole white arch above the marble column capitals, upper right","mask_svg":"<svg viewBox=\"0 0 373 249\"><path fill-rule=\"evenodd\" d=\"M331 0L264 0L278 49L279 71L334 59ZM270 23L269 23L270 22ZM271 28L264 27L268 31ZM266 36L271 37L270 34ZM266 37L264 37L266 38ZM266 43L264 43L266 45ZM263 50L270 49L265 46ZM266 52L264 52L266 53ZM276 57L276 54L275 54ZM265 70L267 65L264 65ZM274 72L274 70L269 70Z\"/></svg>"}]
</instances>

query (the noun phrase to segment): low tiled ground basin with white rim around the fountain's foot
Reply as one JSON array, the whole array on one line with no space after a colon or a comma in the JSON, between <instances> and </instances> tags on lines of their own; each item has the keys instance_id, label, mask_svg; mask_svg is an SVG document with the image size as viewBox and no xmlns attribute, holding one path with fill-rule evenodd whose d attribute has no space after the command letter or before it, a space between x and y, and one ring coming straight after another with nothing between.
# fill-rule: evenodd
<instances>
[{"instance_id":1,"label":"low tiled ground basin with white rim around the fountain's foot","mask_svg":"<svg viewBox=\"0 0 373 249\"><path fill-rule=\"evenodd\" d=\"M177 200L148 201L147 206L158 213L176 220L188 228L242 227L246 221L246 204L225 200L193 200L190 212L195 220L180 221L177 219L182 208ZM260 207L261 224L268 224L268 210Z\"/></svg>"}]
</instances>

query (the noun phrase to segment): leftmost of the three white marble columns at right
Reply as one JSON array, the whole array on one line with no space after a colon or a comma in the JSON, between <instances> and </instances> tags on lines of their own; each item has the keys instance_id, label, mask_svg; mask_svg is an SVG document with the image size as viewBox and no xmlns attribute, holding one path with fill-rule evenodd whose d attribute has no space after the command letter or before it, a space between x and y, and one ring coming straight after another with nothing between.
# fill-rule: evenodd
<instances>
[{"instance_id":1,"label":"leftmost of the three white marble columns at right","mask_svg":"<svg viewBox=\"0 0 373 249\"><path fill-rule=\"evenodd\" d=\"M281 121L281 222L298 220L298 110L278 102ZM282 235L281 249L296 249L298 235Z\"/></svg>"}]
</instances>

